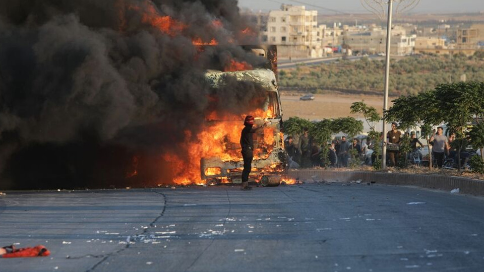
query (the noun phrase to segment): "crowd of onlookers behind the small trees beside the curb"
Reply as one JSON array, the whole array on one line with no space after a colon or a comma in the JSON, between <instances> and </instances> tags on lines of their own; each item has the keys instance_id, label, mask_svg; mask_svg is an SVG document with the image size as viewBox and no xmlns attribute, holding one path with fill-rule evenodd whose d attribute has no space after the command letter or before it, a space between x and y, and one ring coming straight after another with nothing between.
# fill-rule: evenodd
<instances>
[{"instance_id":1,"label":"crowd of onlookers behind the small trees beside the curb","mask_svg":"<svg viewBox=\"0 0 484 272\"><path fill-rule=\"evenodd\" d=\"M451 133L449 137L446 137L443 132L444 129L439 126L430 138L430 144L433 147L432 155L436 166L439 168L443 166L445 158L454 158L457 153L451 147L451 143L455 140L455 133ZM404 136L410 139L411 152L402 154L400 145ZM375 141L370 141L368 138L348 140L345 136L342 136L335 137L327 144L327 148L323 149L312 141L307 128L304 129L301 135L294 137L289 135L284 143L289 155L289 168L310 168L315 166L348 167L350 162L373 165L376 160L376 153L370 152L370 150L374 150L376 144L381 145L380 141L375 143ZM407 161L414 164L423 162L421 148L424 145L416 137L415 131L403 133L398 130L398 124L394 122L392 123L392 129L387 132L386 143L388 166L397 166L401 156L406 156ZM327 156L322 156L322 152L328 152ZM328 161L325 162L325 158Z\"/></svg>"}]
</instances>

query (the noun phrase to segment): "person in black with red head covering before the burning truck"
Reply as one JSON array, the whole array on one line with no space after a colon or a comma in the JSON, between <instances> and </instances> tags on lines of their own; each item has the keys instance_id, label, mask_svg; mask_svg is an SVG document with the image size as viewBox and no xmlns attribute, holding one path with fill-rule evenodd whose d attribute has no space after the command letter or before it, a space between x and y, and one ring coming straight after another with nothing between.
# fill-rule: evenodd
<instances>
[{"instance_id":1,"label":"person in black with red head covering before the burning truck","mask_svg":"<svg viewBox=\"0 0 484 272\"><path fill-rule=\"evenodd\" d=\"M240 189L250 190L249 186L249 174L252 169L252 159L254 158L254 139L253 134L267 123L264 122L259 127L253 128L254 116L247 115L244 121L244 129L240 134L240 147L242 148L242 158L244 159L244 170L242 171L242 184Z\"/></svg>"}]
</instances>

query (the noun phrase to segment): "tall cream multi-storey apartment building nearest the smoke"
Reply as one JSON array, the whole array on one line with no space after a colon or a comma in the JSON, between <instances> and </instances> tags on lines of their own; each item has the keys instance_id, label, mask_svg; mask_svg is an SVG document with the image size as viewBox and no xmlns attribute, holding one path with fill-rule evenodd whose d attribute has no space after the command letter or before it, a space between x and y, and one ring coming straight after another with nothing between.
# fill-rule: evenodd
<instances>
[{"instance_id":1,"label":"tall cream multi-storey apartment building nearest the smoke","mask_svg":"<svg viewBox=\"0 0 484 272\"><path fill-rule=\"evenodd\" d=\"M278 45L281 56L286 50L310 54L320 46L317 18L318 11L306 10L305 6L282 5L280 10L269 12L266 42Z\"/></svg>"}]
</instances>

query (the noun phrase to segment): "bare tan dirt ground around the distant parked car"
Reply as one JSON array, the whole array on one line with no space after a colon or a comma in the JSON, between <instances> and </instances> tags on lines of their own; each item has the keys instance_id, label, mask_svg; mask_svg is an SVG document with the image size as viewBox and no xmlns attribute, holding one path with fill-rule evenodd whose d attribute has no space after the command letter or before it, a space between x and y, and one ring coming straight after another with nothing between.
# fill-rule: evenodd
<instances>
[{"instance_id":1,"label":"bare tan dirt ground around the distant parked car","mask_svg":"<svg viewBox=\"0 0 484 272\"><path fill-rule=\"evenodd\" d=\"M300 93L281 93L283 119L298 116L309 120L321 120L324 118L338 118L352 116L362 118L362 115L350 114L350 106L353 102L364 100L367 105L375 107L380 113L383 111L383 95L353 95L353 94L317 94L315 100L299 100ZM389 106L391 100L389 98Z\"/></svg>"}]
</instances>

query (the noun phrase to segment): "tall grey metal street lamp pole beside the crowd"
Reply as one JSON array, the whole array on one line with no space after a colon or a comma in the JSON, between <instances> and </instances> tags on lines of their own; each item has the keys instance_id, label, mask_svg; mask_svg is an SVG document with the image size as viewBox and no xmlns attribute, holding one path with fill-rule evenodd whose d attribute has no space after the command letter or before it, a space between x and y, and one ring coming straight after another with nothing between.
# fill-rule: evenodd
<instances>
[{"instance_id":1,"label":"tall grey metal street lamp pole beside the crowd","mask_svg":"<svg viewBox=\"0 0 484 272\"><path fill-rule=\"evenodd\" d=\"M382 147L382 169L387 167L387 124L385 111L388 110L388 88L390 80L390 44L392 38L392 13L393 0L388 0L388 21L387 21L387 49L385 52L385 93L383 99L383 147Z\"/></svg>"}]
</instances>

